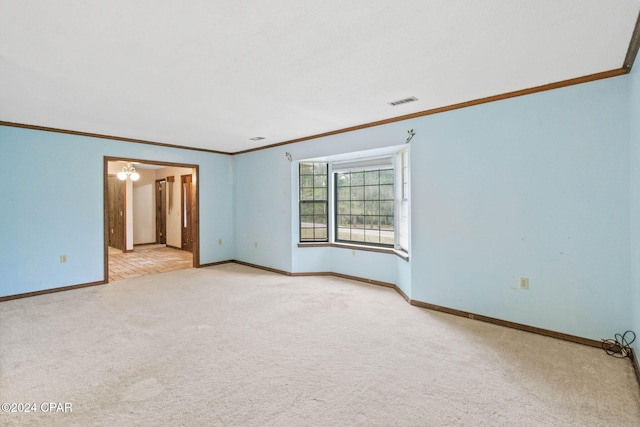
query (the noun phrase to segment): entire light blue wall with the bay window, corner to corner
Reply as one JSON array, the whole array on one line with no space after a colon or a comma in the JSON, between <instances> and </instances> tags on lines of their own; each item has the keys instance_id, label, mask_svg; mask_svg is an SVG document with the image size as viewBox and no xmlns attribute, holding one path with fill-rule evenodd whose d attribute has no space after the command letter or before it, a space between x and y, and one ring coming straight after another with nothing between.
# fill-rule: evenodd
<instances>
[{"instance_id":1,"label":"entire light blue wall with the bay window, corner to corner","mask_svg":"<svg viewBox=\"0 0 640 427\"><path fill-rule=\"evenodd\" d=\"M415 300L612 337L633 318L628 84L608 79L236 156L237 258L389 281ZM410 262L298 248L295 160L401 144L410 128ZM520 276L530 290L516 289Z\"/></svg>"}]
</instances>

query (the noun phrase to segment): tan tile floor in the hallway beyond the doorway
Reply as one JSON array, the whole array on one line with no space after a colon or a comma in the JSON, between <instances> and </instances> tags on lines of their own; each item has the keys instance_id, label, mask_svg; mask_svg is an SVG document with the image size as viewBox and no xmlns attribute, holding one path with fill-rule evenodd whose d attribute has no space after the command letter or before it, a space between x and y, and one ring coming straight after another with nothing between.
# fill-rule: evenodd
<instances>
[{"instance_id":1,"label":"tan tile floor in the hallway beyond the doorway","mask_svg":"<svg viewBox=\"0 0 640 427\"><path fill-rule=\"evenodd\" d=\"M192 266L191 252L164 245L136 246L133 252L124 253L109 248L109 282Z\"/></svg>"}]
</instances>

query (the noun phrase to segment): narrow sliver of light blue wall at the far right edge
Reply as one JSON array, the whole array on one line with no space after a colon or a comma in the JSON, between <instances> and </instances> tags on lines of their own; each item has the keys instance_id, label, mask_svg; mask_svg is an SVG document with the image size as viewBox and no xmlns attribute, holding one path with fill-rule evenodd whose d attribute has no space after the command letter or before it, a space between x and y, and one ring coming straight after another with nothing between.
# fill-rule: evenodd
<instances>
[{"instance_id":1,"label":"narrow sliver of light blue wall at the far right edge","mask_svg":"<svg viewBox=\"0 0 640 427\"><path fill-rule=\"evenodd\" d=\"M640 349L640 65L630 75L631 128L631 268L633 280L634 320L632 330L637 338L633 347Z\"/></svg>"}]
</instances>

